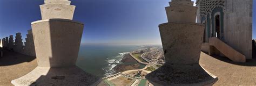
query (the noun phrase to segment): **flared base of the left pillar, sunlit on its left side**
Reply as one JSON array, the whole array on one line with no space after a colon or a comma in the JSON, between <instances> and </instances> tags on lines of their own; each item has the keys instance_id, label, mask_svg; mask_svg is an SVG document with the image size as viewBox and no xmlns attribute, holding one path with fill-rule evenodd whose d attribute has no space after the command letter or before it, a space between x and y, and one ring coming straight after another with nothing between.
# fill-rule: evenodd
<instances>
[{"instance_id":1,"label":"flared base of the left pillar, sunlit on its left side","mask_svg":"<svg viewBox=\"0 0 256 86\"><path fill-rule=\"evenodd\" d=\"M29 74L16 80L14 85L97 85L101 79L85 73L78 67L50 68L36 67Z\"/></svg>"}]
</instances>

